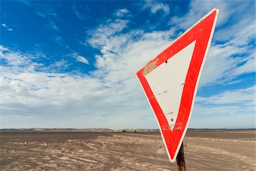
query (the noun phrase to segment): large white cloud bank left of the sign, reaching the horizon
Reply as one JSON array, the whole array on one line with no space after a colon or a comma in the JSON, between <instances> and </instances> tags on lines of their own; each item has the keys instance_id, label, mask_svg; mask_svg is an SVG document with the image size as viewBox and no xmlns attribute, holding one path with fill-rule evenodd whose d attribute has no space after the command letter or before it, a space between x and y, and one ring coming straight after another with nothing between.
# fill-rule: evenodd
<instances>
[{"instance_id":1,"label":"large white cloud bank left of the sign, reaching the horizon","mask_svg":"<svg viewBox=\"0 0 256 171\"><path fill-rule=\"evenodd\" d=\"M23 120L20 127L38 127L45 123L44 127L61 127L65 124L63 127L156 128L155 118L135 73L170 43L167 37L173 31L152 34L132 31L117 35L112 30L107 32L112 36L100 35L105 34L102 30L109 30L110 26L120 31L122 27L115 24L108 23L108 26L94 30L98 31L94 39L105 37L106 40L102 38L104 41L97 43L102 54L96 57L98 69L90 76L48 73L49 70L36 72L28 69L29 65L18 73L13 73L14 66L0 68L5 76L1 78L1 97L5 97L1 101L1 118L6 121L1 127L16 127L12 124L14 122L7 121L15 118L21 122L20 119L25 116L30 122ZM130 39L134 35L141 38ZM130 41L127 42L127 39ZM94 40L90 41L94 43ZM104 42L108 42L107 46ZM116 48L120 46L123 48ZM75 56L79 59L79 55ZM13 106L15 109L10 110ZM47 121L57 118L61 118L61 122Z\"/></svg>"}]
</instances>

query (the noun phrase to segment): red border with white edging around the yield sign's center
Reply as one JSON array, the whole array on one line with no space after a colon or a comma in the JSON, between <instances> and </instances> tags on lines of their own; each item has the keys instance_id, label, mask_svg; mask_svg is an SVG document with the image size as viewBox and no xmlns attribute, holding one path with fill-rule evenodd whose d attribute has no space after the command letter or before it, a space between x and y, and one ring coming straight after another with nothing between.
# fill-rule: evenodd
<instances>
[{"instance_id":1,"label":"red border with white edging around the yield sign's center","mask_svg":"<svg viewBox=\"0 0 256 171\"><path fill-rule=\"evenodd\" d=\"M141 82L147 99L155 113L156 119L158 120L164 145L166 146L167 154L171 162L174 162L176 159L191 119L197 86L199 84L199 78L208 53L209 45L212 40L213 31L216 26L218 11L218 8L210 11L201 20L199 20L199 22L184 32L183 35L179 36L174 43L156 56L155 59L148 62L148 64L143 66L143 68L137 72L139 81ZM173 131L171 131L166 117L156 101L156 98L154 98L154 94L152 93L143 72L144 69L148 65L152 65L152 63L154 64L154 68L158 67L195 40L195 49L193 51L191 63L189 64L187 77L185 79L176 124Z\"/></svg>"}]
</instances>

